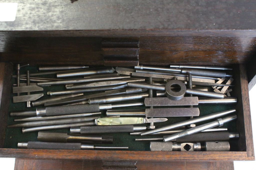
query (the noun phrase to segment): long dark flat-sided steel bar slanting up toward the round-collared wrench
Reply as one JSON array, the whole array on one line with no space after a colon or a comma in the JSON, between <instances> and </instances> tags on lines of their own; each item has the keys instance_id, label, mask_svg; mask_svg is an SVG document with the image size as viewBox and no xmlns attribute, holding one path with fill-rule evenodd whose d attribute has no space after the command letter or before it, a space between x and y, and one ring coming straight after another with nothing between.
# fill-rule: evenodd
<instances>
[{"instance_id":1,"label":"long dark flat-sided steel bar slanting up toward the round-collared wrench","mask_svg":"<svg viewBox=\"0 0 256 170\"><path fill-rule=\"evenodd\" d=\"M68 103L86 101L91 98L97 98L97 97L102 97L102 96L133 94L133 93L141 93L144 91L147 91L147 89L126 88L126 89L110 90L110 91L105 91L103 93L96 93L96 94L91 94L91 95L73 97L73 98L69 98L69 99L62 99L62 100L57 100L57 101L52 101L52 102L46 102L45 106L64 105L64 104L68 104ZM93 103L91 103L91 104L93 104Z\"/></svg>"}]
</instances>

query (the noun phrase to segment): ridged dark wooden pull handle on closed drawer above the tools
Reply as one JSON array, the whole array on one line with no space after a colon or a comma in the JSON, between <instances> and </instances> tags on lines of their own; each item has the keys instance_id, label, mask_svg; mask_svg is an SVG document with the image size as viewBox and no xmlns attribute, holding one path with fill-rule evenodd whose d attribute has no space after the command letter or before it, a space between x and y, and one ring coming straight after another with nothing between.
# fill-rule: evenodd
<instances>
[{"instance_id":1,"label":"ridged dark wooden pull handle on closed drawer above the tools","mask_svg":"<svg viewBox=\"0 0 256 170\"><path fill-rule=\"evenodd\" d=\"M104 38L101 44L105 66L138 66L138 39Z\"/></svg>"}]
</instances>

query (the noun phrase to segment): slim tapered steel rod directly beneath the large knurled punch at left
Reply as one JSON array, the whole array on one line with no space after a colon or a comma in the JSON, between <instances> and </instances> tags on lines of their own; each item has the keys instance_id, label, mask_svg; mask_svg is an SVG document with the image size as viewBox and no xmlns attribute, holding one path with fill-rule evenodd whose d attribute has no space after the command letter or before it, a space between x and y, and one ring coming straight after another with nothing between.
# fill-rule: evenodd
<instances>
[{"instance_id":1,"label":"slim tapered steel rod directly beneath the large knurled punch at left","mask_svg":"<svg viewBox=\"0 0 256 170\"><path fill-rule=\"evenodd\" d=\"M35 111L35 115L36 115L36 111ZM74 118L74 117L86 117L86 116L93 116L93 115L101 115L101 112L65 114L65 115L59 115L59 116L33 116L33 117L14 119L14 121L26 122L26 121L54 120L54 119Z\"/></svg>"}]
</instances>

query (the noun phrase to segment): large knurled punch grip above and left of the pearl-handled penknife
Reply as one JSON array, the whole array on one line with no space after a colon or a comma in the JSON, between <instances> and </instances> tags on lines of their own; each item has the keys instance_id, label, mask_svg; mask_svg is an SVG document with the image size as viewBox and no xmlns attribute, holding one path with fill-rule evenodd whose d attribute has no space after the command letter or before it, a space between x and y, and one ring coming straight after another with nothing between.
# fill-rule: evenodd
<instances>
[{"instance_id":1,"label":"large knurled punch grip above and left of the pearl-handled penknife","mask_svg":"<svg viewBox=\"0 0 256 170\"><path fill-rule=\"evenodd\" d=\"M46 107L46 115L62 115L62 114L74 114L74 113L89 113L89 112L99 112L99 104L80 104L80 105L70 105L70 106L54 106Z\"/></svg>"}]
</instances>

